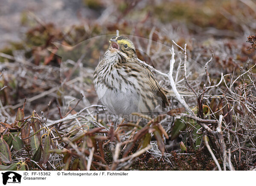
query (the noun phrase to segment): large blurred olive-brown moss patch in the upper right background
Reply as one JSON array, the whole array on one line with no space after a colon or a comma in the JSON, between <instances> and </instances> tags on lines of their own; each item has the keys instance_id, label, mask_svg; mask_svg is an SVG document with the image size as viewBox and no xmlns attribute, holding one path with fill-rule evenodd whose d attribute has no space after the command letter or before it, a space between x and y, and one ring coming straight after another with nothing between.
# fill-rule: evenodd
<instances>
[{"instance_id":1,"label":"large blurred olive-brown moss patch in the upper right background","mask_svg":"<svg viewBox=\"0 0 256 186\"><path fill-rule=\"evenodd\" d=\"M234 6L230 1L172 1L163 2L151 11L154 16L163 23L181 21L188 25L199 27L215 27L216 29L236 30L242 29L219 13L219 9L225 9L231 15L235 14ZM239 7L237 7L239 9ZM232 35L230 35L232 37Z\"/></svg>"}]
</instances>

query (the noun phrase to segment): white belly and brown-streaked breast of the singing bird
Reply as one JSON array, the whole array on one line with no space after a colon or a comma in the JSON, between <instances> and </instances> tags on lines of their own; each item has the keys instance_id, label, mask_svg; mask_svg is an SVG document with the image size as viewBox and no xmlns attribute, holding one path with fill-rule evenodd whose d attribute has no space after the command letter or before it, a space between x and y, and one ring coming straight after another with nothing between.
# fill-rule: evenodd
<instances>
[{"instance_id":1,"label":"white belly and brown-streaked breast of the singing bird","mask_svg":"<svg viewBox=\"0 0 256 186\"><path fill-rule=\"evenodd\" d=\"M138 79L128 76L123 68L119 69L117 73L116 69L111 68L111 64L114 64L113 61L118 61L118 58L112 53L109 55L108 61L102 64L102 68L96 68L98 74L94 80L94 87L102 104L111 114L115 115L129 115L134 112L143 113L152 110L152 104L146 104L145 98L140 96L139 90L142 90L142 87L138 84ZM104 76L105 73L109 73L109 75ZM99 77L105 77L105 82L96 84ZM129 83L125 82L122 77L125 77ZM106 84L113 87L109 88Z\"/></svg>"}]
</instances>

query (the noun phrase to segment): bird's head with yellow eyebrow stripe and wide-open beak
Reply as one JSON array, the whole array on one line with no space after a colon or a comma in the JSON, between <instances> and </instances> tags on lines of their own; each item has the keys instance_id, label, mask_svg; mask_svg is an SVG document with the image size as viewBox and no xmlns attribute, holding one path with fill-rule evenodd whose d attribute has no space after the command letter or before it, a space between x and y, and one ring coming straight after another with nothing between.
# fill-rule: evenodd
<instances>
[{"instance_id":1,"label":"bird's head with yellow eyebrow stripe and wide-open beak","mask_svg":"<svg viewBox=\"0 0 256 186\"><path fill-rule=\"evenodd\" d=\"M131 40L120 35L114 36L109 40L109 50L111 52L118 52L119 54L126 54L129 57L137 57L135 46Z\"/></svg>"}]
</instances>

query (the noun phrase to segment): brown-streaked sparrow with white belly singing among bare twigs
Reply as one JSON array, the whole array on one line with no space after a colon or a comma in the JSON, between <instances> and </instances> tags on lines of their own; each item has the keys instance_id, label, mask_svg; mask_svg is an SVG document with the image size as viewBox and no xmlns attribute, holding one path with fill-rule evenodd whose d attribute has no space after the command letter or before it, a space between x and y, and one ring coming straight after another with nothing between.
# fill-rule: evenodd
<instances>
[{"instance_id":1,"label":"brown-streaked sparrow with white belly singing among bare twigs","mask_svg":"<svg viewBox=\"0 0 256 186\"><path fill-rule=\"evenodd\" d=\"M169 106L168 95L173 95L160 86L138 59L133 42L122 35L110 39L93 73L93 84L102 105L113 115L151 113L159 105Z\"/></svg>"}]
</instances>

